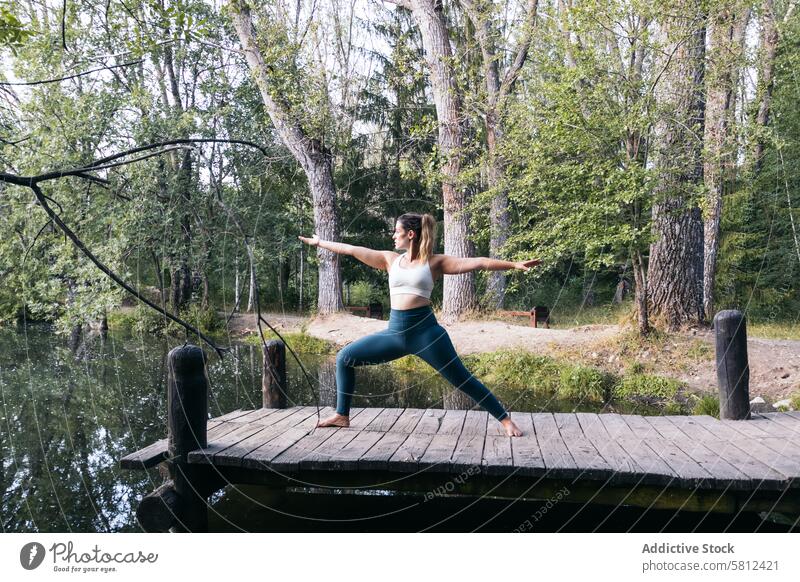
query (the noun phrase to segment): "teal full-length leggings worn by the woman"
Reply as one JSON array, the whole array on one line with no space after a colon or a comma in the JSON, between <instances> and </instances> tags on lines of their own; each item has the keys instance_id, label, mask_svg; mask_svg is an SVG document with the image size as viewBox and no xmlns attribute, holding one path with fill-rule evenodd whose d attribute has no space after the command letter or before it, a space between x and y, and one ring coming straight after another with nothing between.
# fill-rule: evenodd
<instances>
[{"instance_id":1,"label":"teal full-length leggings worn by the woman","mask_svg":"<svg viewBox=\"0 0 800 582\"><path fill-rule=\"evenodd\" d=\"M409 354L425 360L497 420L508 416L494 394L464 367L447 330L436 322L429 305L392 309L387 329L362 337L339 350L336 355L336 412L350 413L356 366L381 364Z\"/></svg>"}]
</instances>

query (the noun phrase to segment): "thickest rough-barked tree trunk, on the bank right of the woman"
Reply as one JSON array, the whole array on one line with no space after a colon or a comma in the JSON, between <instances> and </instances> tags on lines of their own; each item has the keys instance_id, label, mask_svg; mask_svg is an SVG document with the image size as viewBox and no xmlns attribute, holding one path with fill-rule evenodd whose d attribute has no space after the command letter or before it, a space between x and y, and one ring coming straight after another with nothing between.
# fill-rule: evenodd
<instances>
[{"instance_id":1,"label":"thickest rough-barked tree trunk, on the bank right of the woman","mask_svg":"<svg viewBox=\"0 0 800 582\"><path fill-rule=\"evenodd\" d=\"M703 181L705 17L699 0L675 5L667 23L672 55L659 91L668 115L656 125L658 170L648 294L668 329L703 321L703 222L696 192Z\"/></svg>"}]
</instances>

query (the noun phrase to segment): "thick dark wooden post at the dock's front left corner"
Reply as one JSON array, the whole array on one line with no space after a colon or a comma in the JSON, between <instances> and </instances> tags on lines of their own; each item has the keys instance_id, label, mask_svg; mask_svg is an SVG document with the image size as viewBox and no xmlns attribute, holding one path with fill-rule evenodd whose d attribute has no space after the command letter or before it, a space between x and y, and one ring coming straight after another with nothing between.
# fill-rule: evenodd
<instances>
[{"instance_id":1,"label":"thick dark wooden post at the dock's front left corner","mask_svg":"<svg viewBox=\"0 0 800 582\"><path fill-rule=\"evenodd\" d=\"M189 465L190 451L207 445L208 380L206 356L197 346L173 348L167 356L167 423L169 457L167 469L180 511L173 531L208 531L208 506L202 491L206 489L205 467Z\"/></svg>"}]
</instances>

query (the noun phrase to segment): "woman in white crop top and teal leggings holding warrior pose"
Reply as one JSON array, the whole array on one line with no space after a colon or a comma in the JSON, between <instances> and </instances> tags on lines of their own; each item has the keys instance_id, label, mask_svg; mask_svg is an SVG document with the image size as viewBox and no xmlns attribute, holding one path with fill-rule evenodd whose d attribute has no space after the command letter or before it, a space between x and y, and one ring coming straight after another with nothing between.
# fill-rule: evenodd
<instances>
[{"instance_id":1,"label":"woman in white crop top and teal leggings holding warrior pose","mask_svg":"<svg viewBox=\"0 0 800 582\"><path fill-rule=\"evenodd\" d=\"M508 412L480 380L464 367L447 331L436 322L431 309L435 279L478 269L521 269L541 263L502 261L486 257L461 258L433 254L436 221L430 214L403 214L395 224L394 247L408 252L376 251L344 243L298 237L311 246L351 255L364 264L389 272L392 310L389 327L342 348L336 356L336 414L317 426L350 426L350 401L355 390L355 366L380 364L414 354L425 360L451 384L469 395L503 424L508 436L522 436Z\"/></svg>"}]
</instances>

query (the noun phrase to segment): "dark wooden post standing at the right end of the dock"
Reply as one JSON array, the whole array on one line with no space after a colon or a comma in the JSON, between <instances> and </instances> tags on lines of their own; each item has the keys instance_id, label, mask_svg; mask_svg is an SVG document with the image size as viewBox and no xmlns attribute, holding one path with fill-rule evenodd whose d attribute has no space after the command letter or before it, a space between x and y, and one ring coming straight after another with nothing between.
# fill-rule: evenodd
<instances>
[{"instance_id":1,"label":"dark wooden post standing at the right end of the dock","mask_svg":"<svg viewBox=\"0 0 800 582\"><path fill-rule=\"evenodd\" d=\"M735 309L714 316L717 346L717 384L721 420L750 418L750 366L744 314Z\"/></svg>"}]
</instances>

